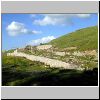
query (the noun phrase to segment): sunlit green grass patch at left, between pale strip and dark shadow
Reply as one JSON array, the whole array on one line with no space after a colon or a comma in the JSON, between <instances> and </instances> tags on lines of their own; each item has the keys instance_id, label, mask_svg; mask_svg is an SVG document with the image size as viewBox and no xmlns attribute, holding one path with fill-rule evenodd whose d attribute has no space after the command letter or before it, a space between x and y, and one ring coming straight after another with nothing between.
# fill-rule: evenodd
<instances>
[{"instance_id":1,"label":"sunlit green grass patch at left, between pale strip and dark shadow","mask_svg":"<svg viewBox=\"0 0 100 100\"><path fill-rule=\"evenodd\" d=\"M17 71L45 71L48 68L45 67L45 65L41 62L37 61L30 61L25 58L21 57L12 57L12 56L6 56L3 54L2 57L2 67L3 69L9 68L11 70L17 70Z\"/></svg>"}]
</instances>

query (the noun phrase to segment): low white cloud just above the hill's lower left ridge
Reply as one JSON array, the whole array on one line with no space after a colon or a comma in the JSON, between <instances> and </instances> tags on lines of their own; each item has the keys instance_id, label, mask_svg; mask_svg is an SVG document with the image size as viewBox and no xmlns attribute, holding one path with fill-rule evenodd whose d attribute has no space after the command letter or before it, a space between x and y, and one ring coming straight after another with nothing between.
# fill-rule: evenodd
<instances>
[{"instance_id":1,"label":"low white cloud just above the hill's lower left ridge","mask_svg":"<svg viewBox=\"0 0 100 100\"><path fill-rule=\"evenodd\" d=\"M28 44L29 45L39 45L40 43L50 42L53 39L55 39L54 36L47 36L47 37L43 37L41 39L31 40Z\"/></svg>"}]
</instances>

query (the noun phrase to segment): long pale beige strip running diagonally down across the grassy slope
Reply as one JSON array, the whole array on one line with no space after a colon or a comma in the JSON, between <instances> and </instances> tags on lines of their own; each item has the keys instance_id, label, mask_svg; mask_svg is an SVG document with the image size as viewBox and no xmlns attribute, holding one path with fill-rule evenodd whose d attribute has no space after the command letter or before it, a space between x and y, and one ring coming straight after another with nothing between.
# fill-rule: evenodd
<instances>
[{"instance_id":1,"label":"long pale beige strip running diagonally down across the grassy slope","mask_svg":"<svg viewBox=\"0 0 100 100\"><path fill-rule=\"evenodd\" d=\"M40 57L40 56L34 56L34 55L29 55L25 54L22 52L17 52L16 50L13 53L7 53L7 56L19 56L19 57L25 57L26 59L29 59L31 61L39 61L44 63L45 65L49 65L50 67L62 67L65 69L75 69L77 68L76 65L69 64L66 62L62 62L60 60L55 60L55 59L50 59L46 57Z\"/></svg>"}]
</instances>

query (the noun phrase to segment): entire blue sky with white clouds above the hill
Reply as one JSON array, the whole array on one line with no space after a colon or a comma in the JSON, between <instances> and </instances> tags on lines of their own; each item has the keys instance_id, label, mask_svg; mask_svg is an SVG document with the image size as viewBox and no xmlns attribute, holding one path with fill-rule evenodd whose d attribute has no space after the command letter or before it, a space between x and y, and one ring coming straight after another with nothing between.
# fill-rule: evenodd
<instances>
[{"instance_id":1,"label":"entire blue sky with white clouds above the hill","mask_svg":"<svg viewBox=\"0 0 100 100\"><path fill-rule=\"evenodd\" d=\"M47 43L95 25L97 14L2 14L2 49Z\"/></svg>"}]
</instances>

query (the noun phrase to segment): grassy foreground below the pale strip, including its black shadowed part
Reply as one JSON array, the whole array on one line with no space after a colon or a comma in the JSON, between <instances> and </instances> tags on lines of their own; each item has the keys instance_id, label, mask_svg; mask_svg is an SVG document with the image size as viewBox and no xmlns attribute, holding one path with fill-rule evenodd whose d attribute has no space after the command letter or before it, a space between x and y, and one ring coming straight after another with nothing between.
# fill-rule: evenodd
<instances>
[{"instance_id":1,"label":"grassy foreground below the pale strip, including its black shadowed part","mask_svg":"<svg viewBox=\"0 0 100 100\"><path fill-rule=\"evenodd\" d=\"M3 86L97 86L98 69L69 70L45 67L25 58L2 55Z\"/></svg>"}]
</instances>

